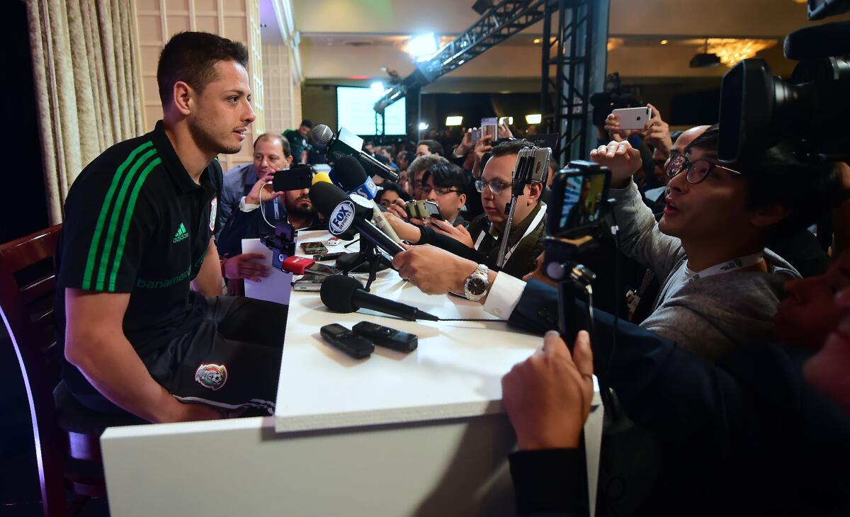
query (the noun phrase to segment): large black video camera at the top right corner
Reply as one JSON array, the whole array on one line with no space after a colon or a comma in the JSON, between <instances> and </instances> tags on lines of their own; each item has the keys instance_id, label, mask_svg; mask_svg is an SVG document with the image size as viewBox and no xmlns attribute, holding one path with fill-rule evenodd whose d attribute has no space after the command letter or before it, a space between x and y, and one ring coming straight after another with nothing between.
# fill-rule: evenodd
<instances>
[{"instance_id":1,"label":"large black video camera at the top right corner","mask_svg":"<svg viewBox=\"0 0 850 517\"><path fill-rule=\"evenodd\" d=\"M850 11L850 0L809 0L808 19ZM850 21L805 27L785 37L785 57L800 61L790 80L761 59L743 60L723 77L717 157L732 163L783 141L804 162L850 158Z\"/></svg>"}]
</instances>

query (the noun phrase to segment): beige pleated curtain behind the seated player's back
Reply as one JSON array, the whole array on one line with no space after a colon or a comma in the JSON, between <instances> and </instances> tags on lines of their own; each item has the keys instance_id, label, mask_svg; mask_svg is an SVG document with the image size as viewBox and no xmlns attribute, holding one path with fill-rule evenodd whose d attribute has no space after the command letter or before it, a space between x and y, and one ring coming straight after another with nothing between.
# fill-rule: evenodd
<instances>
[{"instance_id":1,"label":"beige pleated curtain behind the seated player's back","mask_svg":"<svg viewBox=\"0 0 850 517\"><path fill-rule=\"evenodd\" d=\"M132 0L26 0L50 224L71 183L143 133Z\"/></svg>"}]
</instances>

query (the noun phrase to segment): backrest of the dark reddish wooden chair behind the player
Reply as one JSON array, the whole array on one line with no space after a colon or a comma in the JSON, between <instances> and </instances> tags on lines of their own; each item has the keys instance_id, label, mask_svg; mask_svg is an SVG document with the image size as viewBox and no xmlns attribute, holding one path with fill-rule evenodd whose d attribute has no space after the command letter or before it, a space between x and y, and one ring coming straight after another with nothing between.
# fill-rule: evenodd
<instances>
[{"instance_id":1,"label":"backrest of the dark reddish wooden chair behind the player","mask_svg":"<svg viewBox=\"0 0 850 517\"><path fill-rule=\"evenodd\" d=\"M30 403L45 515L65 514L62 436L53 390L59 382L53 306L61 224L0 245L0 316L18 355Z\"/></svg>"}]
</instances>

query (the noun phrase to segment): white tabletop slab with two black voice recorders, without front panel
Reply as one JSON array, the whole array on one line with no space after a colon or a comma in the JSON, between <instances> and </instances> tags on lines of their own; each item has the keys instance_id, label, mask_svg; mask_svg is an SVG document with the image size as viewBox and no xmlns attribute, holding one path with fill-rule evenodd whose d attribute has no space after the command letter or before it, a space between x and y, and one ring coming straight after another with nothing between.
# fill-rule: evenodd
<instances>
[{"instance_id":1,"label":"white tabletop slab with two black voice recorders, without front panel","mask_svg":"<svg viewBox=\"0 0 850 517\"><path fill-rule=\"evenodd\" d=\"M299 241L321 236L309 232ZM499 413L501 377L541 345L540 337L507 327L481 304L423 294L393 270L380 273L371 292L441 318L492 321L403 321L363 310L339 314L326 309L319 293L293 293L278 383L277 431ZM359 321L416 334L419 347L409 354L376 347L368 359L356 360L320 337L320 327L329 322L351 328Z\"/></svg>"}]
</instances>

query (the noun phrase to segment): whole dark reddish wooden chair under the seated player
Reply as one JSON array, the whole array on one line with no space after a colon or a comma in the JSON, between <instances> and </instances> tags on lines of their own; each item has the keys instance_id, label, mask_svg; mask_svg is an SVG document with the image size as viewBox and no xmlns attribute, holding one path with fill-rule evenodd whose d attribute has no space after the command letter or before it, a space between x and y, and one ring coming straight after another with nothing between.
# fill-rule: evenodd
<instances>
[{"instance_id":1,"label":"whole dark reddish wooden chair under the seated player","mask_svg":"<svg viewBox=\"0 0 850 517\"><path fill-rule=\"evenodd\" d=\"M58 224L0 245L0 316L26 384L47 517L77 514L91 497L105 497L100 435L112 425L144 423L92 412L59 382L53 307L60 230ZM70 507L66 488L74 493Z\"/></svg>"}]
</instances>

